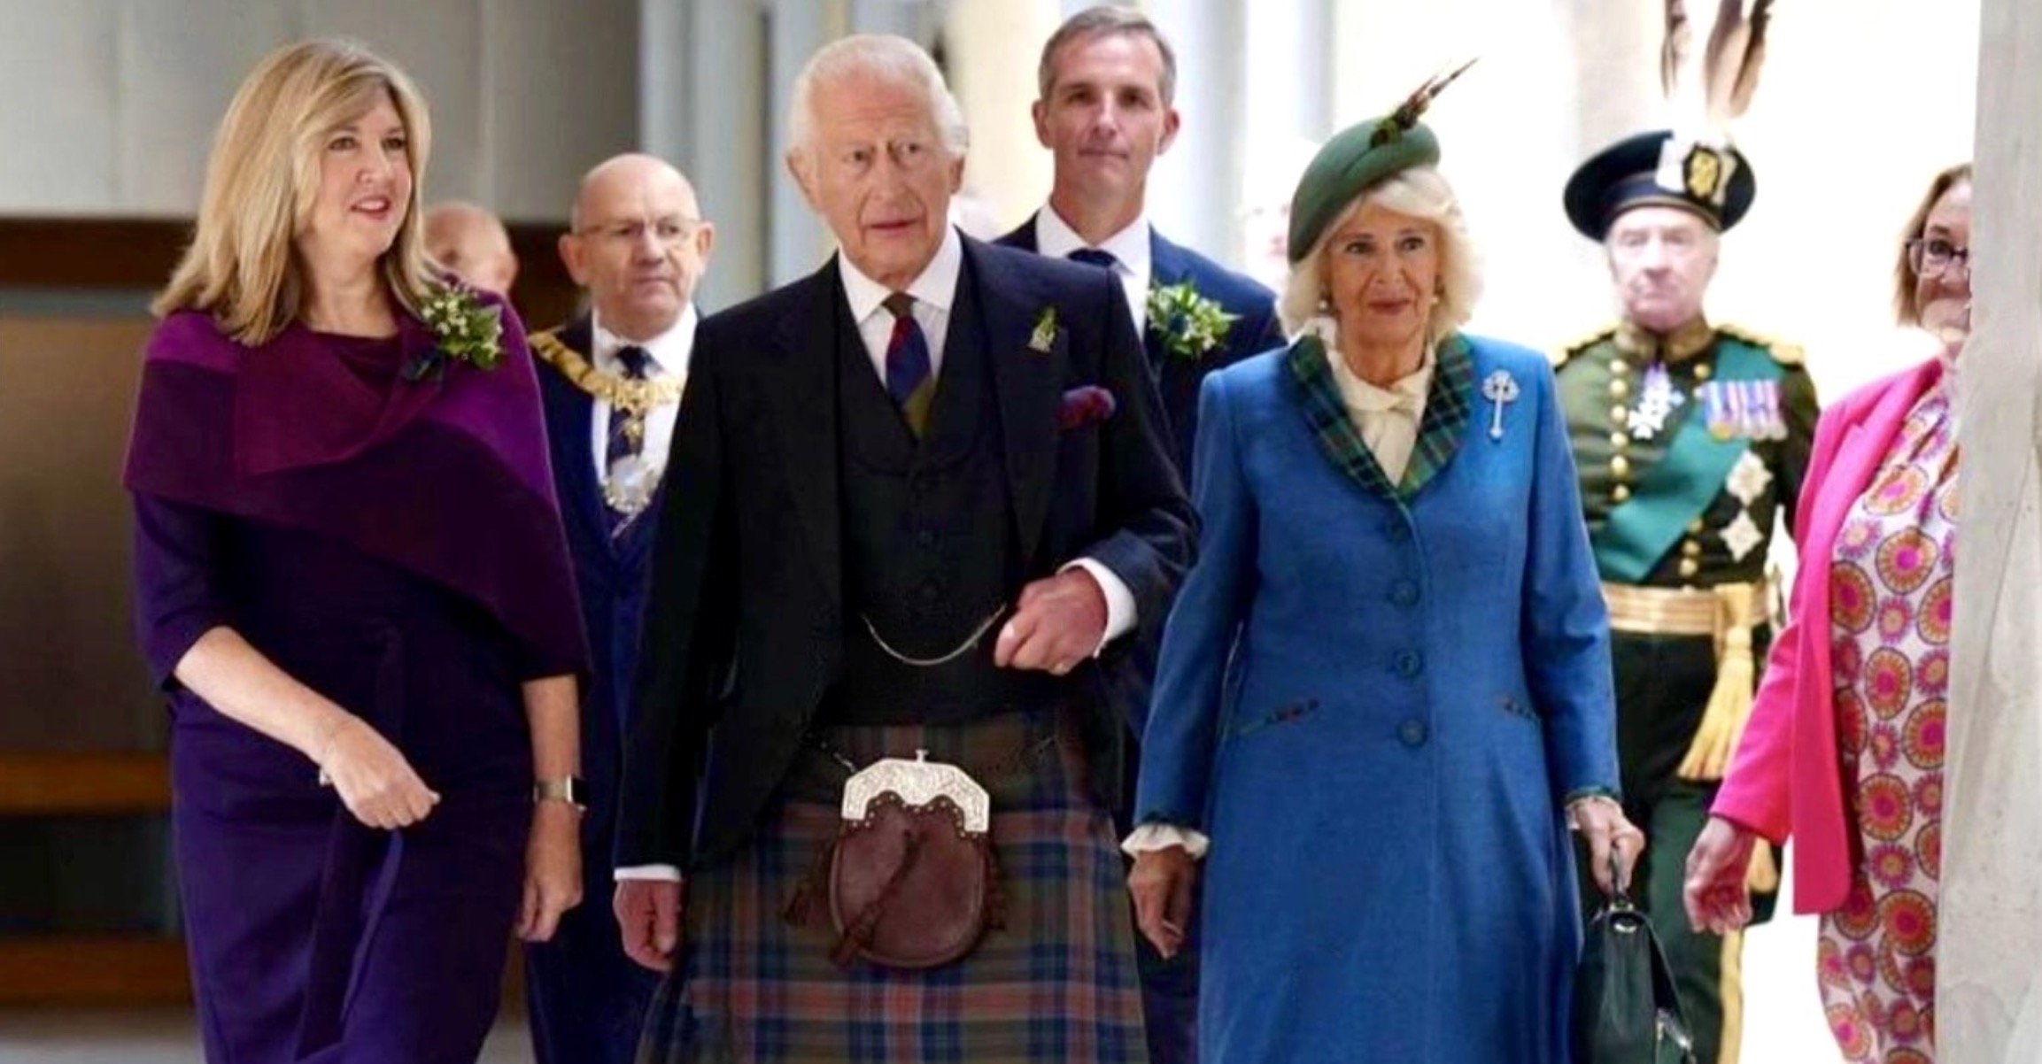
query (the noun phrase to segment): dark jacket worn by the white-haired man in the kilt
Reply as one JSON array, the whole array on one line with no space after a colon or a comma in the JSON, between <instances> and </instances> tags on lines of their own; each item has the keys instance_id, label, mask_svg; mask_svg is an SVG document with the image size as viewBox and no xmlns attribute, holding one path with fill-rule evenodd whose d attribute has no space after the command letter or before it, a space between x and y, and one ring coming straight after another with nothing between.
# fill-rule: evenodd
<instances>
[{"instance_id":1,"label":"dark jacket worn by the white-haired man in the kilt","mask_svg":"<svg viewBox=\"0 0 2042 1064\"><path fill-rule=\"evenodd\" d=\"M1158 629L1197 537L1121 288L1101 270L964 239L976 286L1025 578L1095 558L1133 592L1144 631L1066 678L1115 801L1127 723L1107 674ZM1054 312L1048 351L1031 349ZM715 862L741 845L841 668L837 263L711 317L696 333L666 472L617 864ZM1117 413L1060 427L1066 392ZM1019 592L1019 588L1013 588Z\"/></svg>"}]
</instances>

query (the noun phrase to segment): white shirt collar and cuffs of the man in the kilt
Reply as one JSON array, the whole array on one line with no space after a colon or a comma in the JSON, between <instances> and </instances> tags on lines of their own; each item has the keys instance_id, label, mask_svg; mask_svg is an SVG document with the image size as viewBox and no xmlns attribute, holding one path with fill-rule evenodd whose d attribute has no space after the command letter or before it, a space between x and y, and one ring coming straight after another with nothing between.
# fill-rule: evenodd
<instances>
[{"instance_id":1,"label":"white shirt collar and cuffs of the man in the kilt","mask_svg":"<svg viewBox=\"0 0 2042 1064\"><path fill-rule=\"evenodd\" d=\"M852 265L847 255L837 255L837 274L843 278L843 296L852 304L852 321L858 323L858 337L866 345L866 355L872 359L872 372L886 380L886 341L892 337L894 317L886 310L886 296L892 294L884 284L864 276ZM956 306L958 280L964 276L964 241L958 231L952 229L943 235L943 245L923 268L921 276L907 286L907 294L915 296L915 323L921 325L923 337L929 341L929 374L935 376L943 366L943 341L950 339L950 310ZM992 357L1001 357L994 351ZM1107 643L1127 635L1135 627L1135 596L1127 590L1127 582L1121 580L1113 570L1099 564L1092 558L1076 558L1064 564L1058 572L1068 572L1072 566L1082 568L1092 574L1099 590L1107 598L1107 631L1092 649L1097 658L1099 651L1107 649ZM1005 625L1001 627L1005 631ZM680 880L680 868L672 864L641 864L617 870L619 880Z\"/></svg>"}]
</instances>

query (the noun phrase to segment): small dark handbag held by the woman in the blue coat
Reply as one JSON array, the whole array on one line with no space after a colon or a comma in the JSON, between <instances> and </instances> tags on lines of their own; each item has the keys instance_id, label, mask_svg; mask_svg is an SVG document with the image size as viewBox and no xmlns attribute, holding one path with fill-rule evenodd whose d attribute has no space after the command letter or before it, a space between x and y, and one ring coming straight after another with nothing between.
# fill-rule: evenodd
<instances>
[{"instance_id":1,"label":"small dark handbag held by the woman in the blue coat","mask_svg":"<svg viewBox=\"0 0 2042 1064\"><path fill-rule=\"evenodd\" d=\"M1574 1064L1695 1064L1695 1039L1652 921L1617 890L1574 968Z\"/></svg>"}]
</instances>

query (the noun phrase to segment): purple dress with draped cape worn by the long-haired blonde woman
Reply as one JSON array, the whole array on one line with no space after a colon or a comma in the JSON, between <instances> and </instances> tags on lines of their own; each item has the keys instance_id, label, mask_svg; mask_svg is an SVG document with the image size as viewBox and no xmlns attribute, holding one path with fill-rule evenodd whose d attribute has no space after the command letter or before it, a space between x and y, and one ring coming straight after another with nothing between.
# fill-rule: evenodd
<instances>
[{"instance_id":1,"label":"purple dress with draped cape worn by the long-haired blonde woman","mask_svg":"<svg viewBox=\"0 0 2042 1064\"><path fill-rule=\"evenodd\" d=\"M143 649L172 709L172 825L212 1062L472 1062L496 1015L531 825L521 682L580 672L529 357L198 315L149 347L127 484ZM549 619L549 611L557 611ZM227 625L355 713L441 794L355 821L302 754L172 676Z\"/></svg>"}]
</instances>

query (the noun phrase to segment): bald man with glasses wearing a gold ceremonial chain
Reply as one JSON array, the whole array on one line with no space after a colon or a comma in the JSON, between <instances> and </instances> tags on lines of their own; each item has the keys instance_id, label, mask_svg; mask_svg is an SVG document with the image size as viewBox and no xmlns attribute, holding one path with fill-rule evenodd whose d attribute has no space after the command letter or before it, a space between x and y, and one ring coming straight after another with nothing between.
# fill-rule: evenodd
<instances>
[{"instance_id":1,"label":"bald man with glasses wearing a gold ceremonial chain","mask_svg":"<svg viewBox=\"0 0 2042 1064\"><path fill-rule=\"evenodd\" d=\"M617 155L582 178L560 257L588 312L531 337L545 396L553 480L582 592L594 676L582 705L582 872L613 888L617 780L653 541L655 500L688 357L694 286L715 227L688 180L651 155ZM539 1064L625 1064L658 976L625 958L617 917L584 905L553 941L527 948Z\"/></svg>"}]
</instances>

